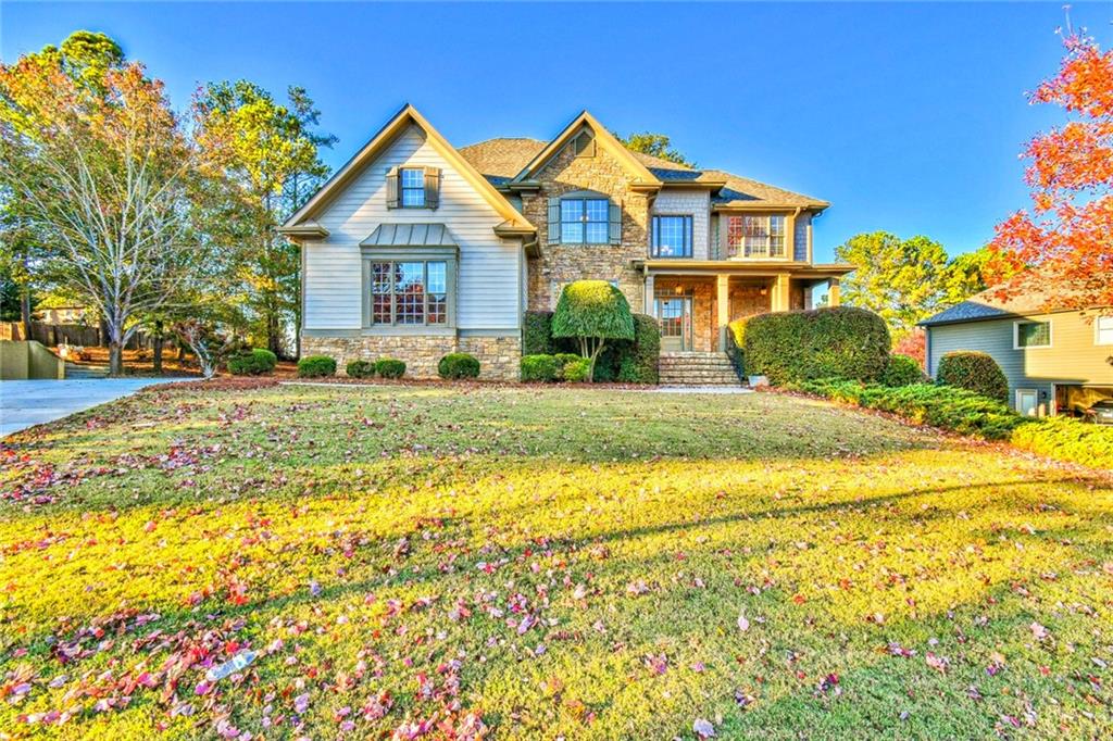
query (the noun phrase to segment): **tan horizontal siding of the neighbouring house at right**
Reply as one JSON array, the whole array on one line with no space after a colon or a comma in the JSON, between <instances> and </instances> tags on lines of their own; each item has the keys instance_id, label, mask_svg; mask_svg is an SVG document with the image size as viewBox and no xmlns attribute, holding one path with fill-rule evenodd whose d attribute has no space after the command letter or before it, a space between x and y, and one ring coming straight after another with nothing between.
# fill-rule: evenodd
<instances>
[{"instance_id":1,"label":"tan horizontal siding of the neighbouring house at right","mask_svg":"<svg viewBox=\"0 0 1113 741\"><path fill-rule=\"evenodd\" d=\"M1013 349L1016 322L1051 322L1051 347ZM986 353L1008 379L1008 402L1016 389L1031 388L1053 399L1052 385L1113 386L1113 345L1095 344L1092 320L1078 312L1035 314L928 327L928 373L934 378L939 358L956 350ZM1041 399L1044 401L1044 399Z\"/></svg>"}]
</instances>

